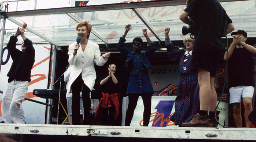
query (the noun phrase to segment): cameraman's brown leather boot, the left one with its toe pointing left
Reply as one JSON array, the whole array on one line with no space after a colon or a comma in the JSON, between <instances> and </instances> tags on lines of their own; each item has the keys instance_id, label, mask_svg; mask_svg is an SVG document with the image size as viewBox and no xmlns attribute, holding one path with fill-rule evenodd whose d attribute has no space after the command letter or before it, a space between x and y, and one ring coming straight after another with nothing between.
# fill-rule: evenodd
<instances>
[{"instance_id":1,"label":"cameraman's brown leather boot, the left one with its toe pointing left","mask_svg":"<svg viewBox=\"0 0 256 142\"><path fill-rule=\"evenodd\" d=\"M182 127L209 127L209 115L201 116L199 113L194 115L190 122L183 122Z\"/></svg>"}]
</instances>

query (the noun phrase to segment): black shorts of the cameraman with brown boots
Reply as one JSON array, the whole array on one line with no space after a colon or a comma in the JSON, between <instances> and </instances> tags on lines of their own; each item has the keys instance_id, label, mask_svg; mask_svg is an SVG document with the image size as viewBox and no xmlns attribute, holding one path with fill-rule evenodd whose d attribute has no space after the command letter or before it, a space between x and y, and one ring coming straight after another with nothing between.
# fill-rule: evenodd
<instances>
[{"instance_id":1,"label":"black shorts of the cameraman with brown boots","mask_svg":"<svg viewBox=\"0 0 256 142\"><path fill-rule=\"evenodd\" d=\"M221 58L221 50L210 53L192 52L191 69L197 72L201 68L210 72L211 77L215 77Z\"/></svg>"}]
</instances>

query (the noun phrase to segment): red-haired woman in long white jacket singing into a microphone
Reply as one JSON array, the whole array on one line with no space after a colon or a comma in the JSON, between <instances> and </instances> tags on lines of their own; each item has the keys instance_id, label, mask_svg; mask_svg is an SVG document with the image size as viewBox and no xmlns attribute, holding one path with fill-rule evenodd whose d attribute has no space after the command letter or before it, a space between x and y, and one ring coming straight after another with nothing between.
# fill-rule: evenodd
<instances>
[{"instance_id":1,"label":"red-haired woman in long white jacket singing into a microphone","mask_svg":"<svg viewBox=\"0 0 256 142\"><path fill-rule=\"evenodd\" d=\"M92 25L88 21L80 22L77 25L77 35L81 37L79 45L75 42L68 47L68 62L74 65L68 80L68 88L72 91L72 121L73 125L80 125L80 91L82 89L82 99L84 106L83 125L91 125L90 120L90 91L93 89L96 72L94 63L98 66L103 66L107 62L110 53L105 53L101 56L99 45L90 42L89 36ZM77 50L77 53L75 52ZM70 89L71 88L71 89Z\"/></svg>"}]
</instances>

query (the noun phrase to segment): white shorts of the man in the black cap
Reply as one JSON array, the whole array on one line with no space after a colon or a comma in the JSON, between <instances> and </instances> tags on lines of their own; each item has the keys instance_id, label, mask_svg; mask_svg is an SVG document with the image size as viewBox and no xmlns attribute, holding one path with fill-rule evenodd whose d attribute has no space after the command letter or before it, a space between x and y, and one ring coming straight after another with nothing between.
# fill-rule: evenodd
<instances>
[{"instance_id":1,"label":"white shorts of the man in the black cap","mask_svg":"<svg viewBox=\"0 0 256 142\"><path fill-rule=\"evenodd\" d=\"M229 103L241 103L242 98L253 96L254 87L252 86L237 86L229 88L230 100Z\"/></svg>"}]
</instances>

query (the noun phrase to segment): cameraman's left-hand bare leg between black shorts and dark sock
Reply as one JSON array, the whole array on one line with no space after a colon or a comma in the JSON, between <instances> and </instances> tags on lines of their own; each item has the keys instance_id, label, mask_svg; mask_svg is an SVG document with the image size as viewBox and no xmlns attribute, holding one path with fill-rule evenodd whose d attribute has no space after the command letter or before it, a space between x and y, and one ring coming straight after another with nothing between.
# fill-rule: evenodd
<instances>
[{"instance_id":1,"label":"cameraman's left-hand bare leg between black shorts and dark sock","mask_svg":"<svg viewBox=\"0 0 256 142\"><path fill-rule=\"evenodd\" d=\"M208 110L211 94L210 72L198 69L200 110ZM216 92L215 92L216 93Z\"/></svg>"}]
</instances>

